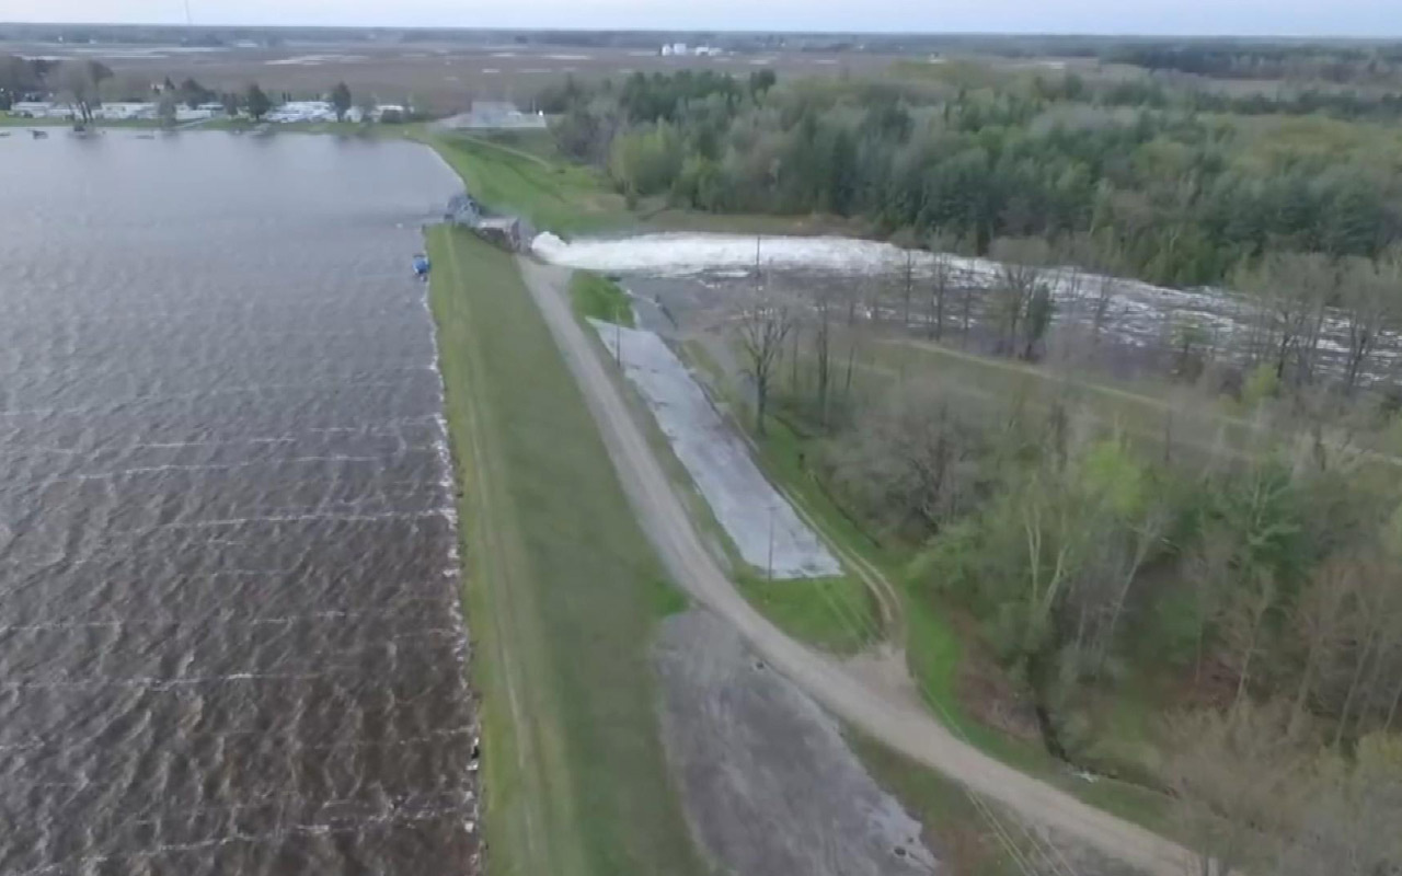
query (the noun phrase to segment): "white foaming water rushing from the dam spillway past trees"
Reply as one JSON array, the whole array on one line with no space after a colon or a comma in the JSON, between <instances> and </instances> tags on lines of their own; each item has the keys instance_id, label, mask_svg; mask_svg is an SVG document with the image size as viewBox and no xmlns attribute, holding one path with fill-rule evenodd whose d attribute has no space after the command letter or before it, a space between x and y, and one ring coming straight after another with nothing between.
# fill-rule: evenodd
<instances>
[{"instance_id":1,"label":"white foaming water rushing from the dam spillway past trees","mask_svg":"<svg viewBox=\"0 0 1402 876\"><path fill-rule=\"evenodd\" d=\"M707 328L725 321L733 303L753 289L754 272L760 269L767 283L796 296L826 287L840 308L857 300L862 320L920 336L935 332L935 256L925 251L847 237L732 234L646 234L569 242L541 234L533 248L552 264L627 275L629 290L662 304L673 328ZM953 255L942 259L951 276L942 336L960 336L967 307L970 349L991 352L998 342L998 320L990 290L998 285L1001 265ZM908 308L904 306L907 266ZM1049 269L1044 282L1053 289L1056 311L1043 352L1089 359L1091 364L1113 367L1122 376L1172 369L1187 327L1197 353L1239 362L1252 332L1262 324L1262 314L1244 296L1218 289L1166 289L1070 269ZM1319 341L1323 371L1342 373L1347 335L1343 315L1328 313ZM1367 377L1395 376L1399 366L1398 338L1387 334L1377 343Z\"/></svg>"}]
</instances>

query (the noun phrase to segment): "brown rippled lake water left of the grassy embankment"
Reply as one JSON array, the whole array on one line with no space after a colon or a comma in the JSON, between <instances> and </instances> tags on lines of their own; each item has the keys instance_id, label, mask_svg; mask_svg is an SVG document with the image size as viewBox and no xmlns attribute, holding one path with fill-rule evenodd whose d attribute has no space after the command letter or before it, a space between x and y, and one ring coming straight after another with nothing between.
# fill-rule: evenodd
<instances>
[{"instance_id":1,"label":"brown rippled lake water left of the grassy embankment","mask_svg":"<svg viewBox=\"0 0 1402 876\"><path fill-rule=\"evenodd\" d=\"M405 143L0 139L0 875L467 873Z\"/></svg>"}]
</instances>

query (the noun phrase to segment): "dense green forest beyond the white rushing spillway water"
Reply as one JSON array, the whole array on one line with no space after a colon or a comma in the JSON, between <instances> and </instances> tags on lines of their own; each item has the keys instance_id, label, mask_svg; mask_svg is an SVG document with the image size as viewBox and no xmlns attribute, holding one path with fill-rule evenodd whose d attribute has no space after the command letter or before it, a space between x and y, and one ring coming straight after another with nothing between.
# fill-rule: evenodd
<instances>
[{"instance_id":1,"label":"dense green forest beyond the white rushing spillway water","mask_svg":"<svg viewBox=\"0 0 1402 876\"><path fill-rule=\"evenodd\" d=\"M1102 268L1172 285L1220 282L1274 249L1375 256L1402 234L1395 179L1323 158L1263 165L1216 122L1096 107L1074 77L931 95L635 74L548 97L566 154L629 196L704 210L862 216L976 254L1002 235L1088 233Z\"/></svg>"}]
</instances>

